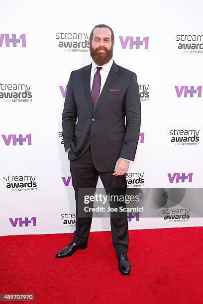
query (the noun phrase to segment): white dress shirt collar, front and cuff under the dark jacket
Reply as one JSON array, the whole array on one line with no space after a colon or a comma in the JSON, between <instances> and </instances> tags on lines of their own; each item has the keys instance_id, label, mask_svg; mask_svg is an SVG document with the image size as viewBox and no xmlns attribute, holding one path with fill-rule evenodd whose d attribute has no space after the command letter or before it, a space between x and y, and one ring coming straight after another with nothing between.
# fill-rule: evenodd
<instances>
[{"instance_id":1,"label":"white dress shirt collar, front and cuff under the dark jacket","mask_svg":"<svg viewBox=\"0 0 203 304\"><path fill-rule=\"evenodd\" d=\"M91 88L91 91L92 91L94 76L95 76L95 73L97 72L97 67L102 67L102 70L100 71L100 75L101 75L100 94L101 94L102 88L104 86L104 83L106 81L106 78L108 76L110 68L112 66L112 63L113 63L112 59L107 64L102 65L102 66L98 66L94 61L92 62L92 70L91 70L91 76L90 76L90 88ZM126 158L123 158L123 157L120 157L120 158L125 159L127 161L130 161L129 159L126 159Z\"/></svg>"}]
</instances>

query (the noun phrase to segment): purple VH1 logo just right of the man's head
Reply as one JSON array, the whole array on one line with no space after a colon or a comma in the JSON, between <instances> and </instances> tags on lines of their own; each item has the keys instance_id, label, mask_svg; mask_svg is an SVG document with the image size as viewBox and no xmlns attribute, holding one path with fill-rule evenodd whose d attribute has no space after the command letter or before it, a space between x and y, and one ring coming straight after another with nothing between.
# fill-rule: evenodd
<instances>
[{"instance_id":1,"label":"purple VH1 logo just right of the man's head","mask_svg":"<svg viewBox=\"0 0 203 304\"><path fill-rule=\"evenodd\" d=\"M135 38L133 36L126 36L125 38L123 38L123 36L119 36L119 39L122 49L126 49L128 45L129 49L135 48L136 50L139 50L140 45L143 45L145 50L149 49L149 37L144 37L143 40L141 40L141 37L139 36Z\"/></svg>"}]
</instances>

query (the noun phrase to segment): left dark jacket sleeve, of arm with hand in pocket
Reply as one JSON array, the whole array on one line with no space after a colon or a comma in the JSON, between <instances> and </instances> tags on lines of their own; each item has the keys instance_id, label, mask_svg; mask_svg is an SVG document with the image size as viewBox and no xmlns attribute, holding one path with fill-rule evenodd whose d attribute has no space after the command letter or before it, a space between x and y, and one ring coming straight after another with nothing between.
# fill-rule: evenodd
<instances>
[{"instance_id":1,"label":"left dark jacket sleeve, of arm with hand in pocket","mask_svg":"<svg viewBox=\"0 0 203 304\"><path fill-rule=\"evenodd\" d=\"M77 108L74 99L73 86L72 86L72 75L71 72L67 88L66 98L64 102L64 109L62 114L62 136L64 140L65 151L71 148L71 142L73 141L75 125L77 121Z\"/></svg>"}]
</instances>

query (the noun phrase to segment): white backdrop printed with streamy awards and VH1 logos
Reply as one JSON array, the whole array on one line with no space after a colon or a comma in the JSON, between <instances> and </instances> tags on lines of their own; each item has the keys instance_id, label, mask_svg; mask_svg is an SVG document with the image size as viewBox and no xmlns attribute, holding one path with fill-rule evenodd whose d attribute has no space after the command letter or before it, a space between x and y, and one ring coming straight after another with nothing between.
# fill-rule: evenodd
<instances>
[{"instance_id":1,"label":"white backdrop printed with streamy awards and VH1 logos","mask_svg":"<svg viewBox=\"0 0 203 304\"><path fill-rule=\"evenodd\" d=\"M62 111L71 72L92 62L89 36L100 23L140 89L128 189L165 193L161 203L153 196L153 216L128 214L129 229L203 226L198 189L182 203L186 188L203 187L203 2L1 0L0 10L0 235L75 229ZM92 231L109 222L94 218Z\"/></svg>"}]
</instances>

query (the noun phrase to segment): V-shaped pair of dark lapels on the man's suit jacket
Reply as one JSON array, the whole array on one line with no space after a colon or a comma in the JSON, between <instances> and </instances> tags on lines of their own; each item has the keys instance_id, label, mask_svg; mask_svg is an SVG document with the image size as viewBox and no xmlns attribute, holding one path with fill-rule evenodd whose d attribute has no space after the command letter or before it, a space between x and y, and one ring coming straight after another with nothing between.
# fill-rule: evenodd
<instances>
[{"instance_id":1,"label":"V-shaped pair of dark lapels on the man's suit jacket","mask_svg":"<svg viewBox=\"0 0 203 304\"><path fill-rule=\"evenodd\" d=\"M103 85L102 92L101 92L100 97L98 99L97 105L95 107L95 111L94 111L92 97L91 97L91 90L90 90L91 69L92 69L92 64L90 64L89 66L84 68L85 72L83 74L83 85L84 85L86 98L88 100L91 111L92 111L92 113L95 113L97 111L97 109L99 108L99 106L101 105L101 103L102 103L105 95L107 94L109 88L111 87L111 85L113 84L115 79L118 77L118 75L119 75L118 72L119 71L118 71L118 66L113 61L112 66L110 68L110 71L108 73L108 76L106 78L106 81Z\"/></svg>"}]
</instances>

